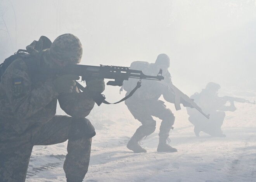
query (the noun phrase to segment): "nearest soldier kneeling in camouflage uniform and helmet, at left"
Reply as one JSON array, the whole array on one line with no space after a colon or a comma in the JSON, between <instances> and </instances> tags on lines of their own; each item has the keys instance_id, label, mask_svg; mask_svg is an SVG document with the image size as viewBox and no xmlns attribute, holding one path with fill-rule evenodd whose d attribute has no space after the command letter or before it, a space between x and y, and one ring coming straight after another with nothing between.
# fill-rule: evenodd
<instances>
[{"instance_id":1,"label":"nearest soldier kneeling in camouflage uniform and helmet, at left","mask_svg":"<svg viewBox=\"0 0 256 182\"><path fill-rule=\"evenodd\" d=\"M64 171L68 182L81 182L88 170L94 128L88 116L94 101L89 92L103 92L103 79L86 82L78 92L76 75L44 74L29 68L61 68L80 63L82 45L73 34L57 37L50 49L38 51L37 41L27 46L30 60L18 58L0 82L0 181L24 182L34 145L52 145L68 139ZM34 70L35 71L35 70ZM56 116L57 100L70 116Z\"/></svg>"}]
</instances>

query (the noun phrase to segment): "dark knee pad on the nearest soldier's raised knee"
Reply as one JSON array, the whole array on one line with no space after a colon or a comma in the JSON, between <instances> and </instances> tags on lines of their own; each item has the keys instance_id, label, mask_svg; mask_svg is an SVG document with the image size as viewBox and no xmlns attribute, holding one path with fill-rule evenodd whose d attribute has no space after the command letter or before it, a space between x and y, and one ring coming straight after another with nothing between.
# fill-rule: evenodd
<instances>
[{"instance_id":1,"label":"dark knee pad on the nearest soldier's raised knee","mask_svg":"<svg viewBox=\"0 0 256 182\"><path fill-rule=\"evenodd\" d=\"M73 118L72 126L69 130L68 139L77 140L81 138L92 138L95 136L95 128L89 119L86 118Z\"/></svg>"}]
</instances>

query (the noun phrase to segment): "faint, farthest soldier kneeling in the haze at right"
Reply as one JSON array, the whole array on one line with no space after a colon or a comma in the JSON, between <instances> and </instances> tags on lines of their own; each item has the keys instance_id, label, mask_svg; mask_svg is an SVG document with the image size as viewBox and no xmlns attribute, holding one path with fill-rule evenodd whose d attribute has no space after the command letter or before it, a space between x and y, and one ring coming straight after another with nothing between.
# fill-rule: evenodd
<instances>
[{"instance_id":1,"label":"faint, farthest soldier kneeling in the haze at right","mask_svg":"<svg viewBox=\"0 0 256 182\"><path fill-rule=\"evenodd\" d=\"M211 136L225 137L221 130L225 118L224 111L235 111L234 100L228 99L228 97L219 97L218 90L220 85L217 83L209 82L202 92L195 93L190 98L194 99L194 102L202 108L203 111L210 114L210 119L199 114L197 111L191 108L187 108L189 114L189 121L195 126L194 132L196 136L199 136L201 131L210 134ZM234 98L235 99L235 98ZM230 101L230 105L226 106L227 101Z\"/></svg>"}]
</instances>

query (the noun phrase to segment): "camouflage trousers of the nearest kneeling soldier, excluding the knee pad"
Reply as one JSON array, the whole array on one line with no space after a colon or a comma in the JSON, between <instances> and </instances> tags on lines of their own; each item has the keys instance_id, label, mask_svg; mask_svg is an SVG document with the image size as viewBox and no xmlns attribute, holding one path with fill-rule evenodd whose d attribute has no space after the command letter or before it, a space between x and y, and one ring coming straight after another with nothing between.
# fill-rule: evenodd
<instances>
[{"instance_id":1,"label":"camouflage trousers of the nearest kneeling soldier, excluding the knee pad","mask_svg":"<svg viewBox=\"0 0 256 182\"><path fill-rule=\"evenodd\" d=\"M0 140L0 181L24 182L33 146L53 145L66 141L69 139L72 126L72 117L54 116L43 126L4 142ZM69 139L63 166L67 178L85 177L90 161L91 144L92 138Z\"/></svg>"}]
</instances>

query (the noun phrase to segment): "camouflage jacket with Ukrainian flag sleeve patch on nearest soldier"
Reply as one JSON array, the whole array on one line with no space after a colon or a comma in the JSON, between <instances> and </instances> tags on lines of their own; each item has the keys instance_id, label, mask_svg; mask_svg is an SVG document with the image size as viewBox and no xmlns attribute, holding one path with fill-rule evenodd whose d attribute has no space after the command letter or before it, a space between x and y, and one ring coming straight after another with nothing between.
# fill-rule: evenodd
<instances>
[{"instance_id":1,"label":"camouflage jacket with Ukrainian flag sleeve patch on nearest soldier","mask_svg":"<svg viewBox=\"0 0 256 182\"><path fill-rule=\"evenodd\" d=\"M33 79L22 58L10 64L0 82L0 140L48 122L55 115L57 100L70 116L86 117L90 113L95 102L86 89L79 93L74 87L70 94L58 94L52 83L55 77Z\"/></svg>"}]
</instances>

